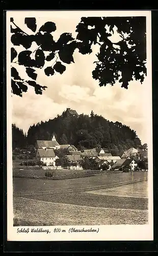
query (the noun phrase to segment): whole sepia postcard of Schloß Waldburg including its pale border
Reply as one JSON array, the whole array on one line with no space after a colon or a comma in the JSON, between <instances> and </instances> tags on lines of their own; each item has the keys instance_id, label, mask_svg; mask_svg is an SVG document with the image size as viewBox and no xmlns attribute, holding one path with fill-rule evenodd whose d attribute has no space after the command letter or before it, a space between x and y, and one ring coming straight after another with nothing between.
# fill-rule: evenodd
<instances>
[{"instance_id":1,"label":"whole sepia postcard of Schlo\u00df Waldburg including its pale border","mask_svg":"<svg viewBox=\"0 0 158 256\"><path fill-rule=\"evenodd\" d=\"M152 240L150 11L7 11L10 241Z\"/></svg>"}]
</instances>

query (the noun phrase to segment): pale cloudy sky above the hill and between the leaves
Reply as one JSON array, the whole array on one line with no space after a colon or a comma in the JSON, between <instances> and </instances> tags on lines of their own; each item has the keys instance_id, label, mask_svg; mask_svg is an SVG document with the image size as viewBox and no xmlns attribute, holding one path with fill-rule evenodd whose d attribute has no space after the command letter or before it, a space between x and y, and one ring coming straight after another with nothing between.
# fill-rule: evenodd
<instances>
[{"instance_id":1,"label":"pale cloudy sky above the hill and between the leaves","mask_svg":"<svg viewBox=\"0 0 158 256\"><path fill-rule=\"evenodd\" d=\"M36 17L37 18L37 17ZM80 17L42 17L37 18L37 30L45 22L56 23L57 30L53 32L55 40L62 33L72 33L75 37L75 27L80 22ZM14 17L14 22L23 31L31 34L31 31L24 25L23 17ZM112 41L118 41L119 36L114 33ZM24 50L22 47L15 47L17 51ZM33 44L31 49L36 49ZM66 71L47 77L44 70L40 70L37 76L37 83L47 86L42 95L36 95L33 88L23 93L22 98L12 95L12 123L15 123L24 132L28 132L30 125L40 121L53 119L57 114L62 114L66 108L76 110L78 114L89 114L93 110L95 114L116 122L122 122L135 130L142 144L146 143L146 103L148 100L147 89L149 84L145 78L141 84L139 81L131 81L128 89L121 88L121 83L116 82L112 87L99 87L99 81L92 78L92 71L95 69L97 60L97 47L93 47L93 53L82 55L77 50L74 52L74 63L66 66ZM48 64L48 63L47 63ZM19 75L28 79L24 67L18 67ZM30 78L29 78L30 79ZM52 127L53 132L53 127Z\"/></svg>"}]
</instances>

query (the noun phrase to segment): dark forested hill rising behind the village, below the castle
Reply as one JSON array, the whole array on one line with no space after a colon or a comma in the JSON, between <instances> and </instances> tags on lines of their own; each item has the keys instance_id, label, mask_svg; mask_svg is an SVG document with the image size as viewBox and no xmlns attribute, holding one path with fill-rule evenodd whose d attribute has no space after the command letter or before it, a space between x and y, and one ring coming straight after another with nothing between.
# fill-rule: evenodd
<instances>
[{"instance_id":1,"label":"dark forested hill rising behind the village, below the castle","mask_svg":"<svg viewBox=\"0 0 158 256\"><path fill-rule=\"evenodd\" d=\"M129 126L110 122L93 111L90 116L79 117L67 116L64 111L54 119L30 126L27 136L15 125L12 131L13 148L35 145L36 140L50 140L53 133L59 144L73 144L78 150L102 147L116 156L130 147L141 146L136 132Z\"/></svg>"}]
</instances>

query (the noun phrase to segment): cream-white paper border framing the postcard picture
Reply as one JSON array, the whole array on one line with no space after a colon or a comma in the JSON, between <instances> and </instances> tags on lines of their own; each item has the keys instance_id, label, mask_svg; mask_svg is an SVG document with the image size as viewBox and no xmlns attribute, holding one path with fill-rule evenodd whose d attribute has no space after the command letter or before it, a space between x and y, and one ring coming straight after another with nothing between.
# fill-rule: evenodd
<instances>
[{"instance_id":1,"label":"cream-white paper border framing the postcard picture","mask_svg":"<svg viewBox=\"0 0 158 256\"><path fill-rule=\"evenodd\" d=\"M54 233L53 226L48 228L51 232L46 233L17 233L17 227L13 227L13 179L12 179L12 98L11 98L11 73L10 73L10 17L40 16L70 18L70 16L146 16L147 24L147 78L148 90L146 91L149 101L147 102L148 119L148 151L149 151L149 224L148 225L100 225L84 226L98 229L98 233ZM7 11L7 238L8 241L151 241L153 240L153 173L152 173L152 63L151 63L151 11ZM58 226L59 227L59 226ZM60 226L69 230L72 226ZM83 226L74 226L82 228ZM31 227L29 227L31 228ZM39 228L39 227L38 227ZM88 234L88 235L87 235Z\"/></svg>"}]
</instances>

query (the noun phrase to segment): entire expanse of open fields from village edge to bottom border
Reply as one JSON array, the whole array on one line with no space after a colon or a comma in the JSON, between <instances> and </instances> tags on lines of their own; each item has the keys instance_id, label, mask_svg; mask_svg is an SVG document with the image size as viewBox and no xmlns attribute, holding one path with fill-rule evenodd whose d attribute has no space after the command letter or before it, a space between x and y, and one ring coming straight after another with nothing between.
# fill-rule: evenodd
<instances>
[{"instance_id":1,"label":"entire expanse of open fields from village edge to bottom border","mask_svg":"<svg viewBox=\"0 0 158 256\"><path fill-rule=\"evenodd\" d=\"M135 172L133 176L130 173L111 173L67 180L13 178L14 225L147 224L147 175L147 172ZM144 181L93 189L140 178ZM91 191L86 191L87 187L91 187ZM48 190L52 194L48 194ZM22 192L29 191L35 194L22 195ZM16 197L20 192L22 196Z\"/></svg>"}]
</instances>

